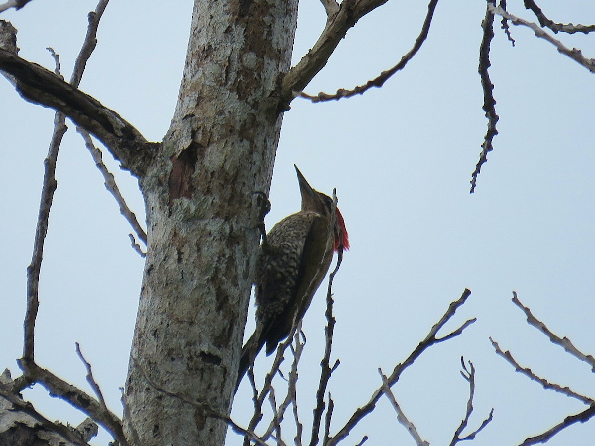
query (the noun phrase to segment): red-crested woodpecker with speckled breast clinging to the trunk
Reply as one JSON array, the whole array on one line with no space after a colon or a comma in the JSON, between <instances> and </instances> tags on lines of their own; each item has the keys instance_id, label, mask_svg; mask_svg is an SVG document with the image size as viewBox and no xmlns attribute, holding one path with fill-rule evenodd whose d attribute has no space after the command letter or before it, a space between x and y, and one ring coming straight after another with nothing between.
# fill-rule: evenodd
<instances>
[{"instance_id":1,"label":"red-crested woodpecker with speckled breast clinging to the trunk","mask_svg":"<svg viewBox=\"0 0 595 446\"><path fill-rule=\"evenodd\" d=\"M236 390L266 344L267 356L308 310L330 266L333 252L349 249L343 216L333 200L312 189L294 165L302 210L286 216L264 237L256 260L256 330L242 348Z\"/></svg>"}]
</instances>

